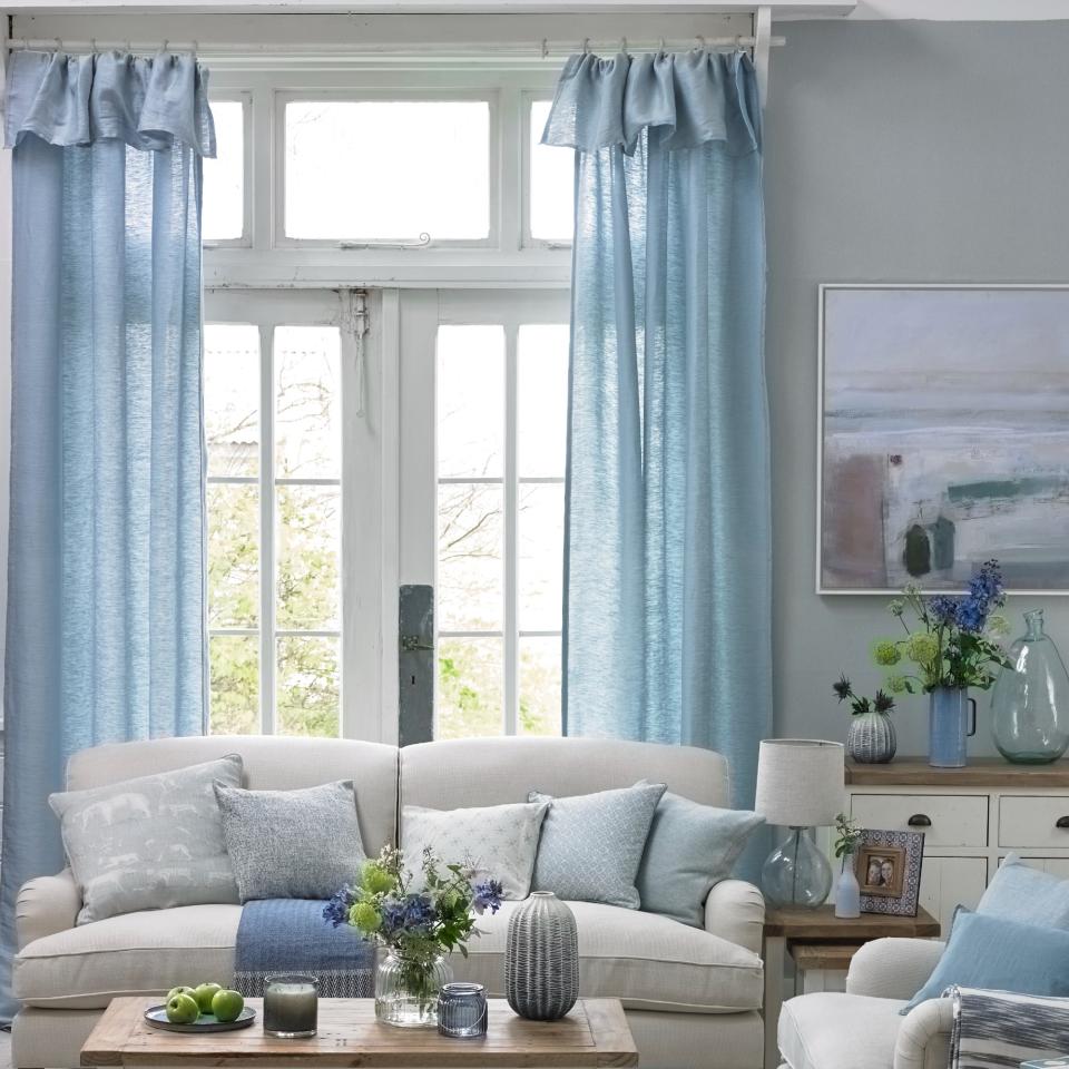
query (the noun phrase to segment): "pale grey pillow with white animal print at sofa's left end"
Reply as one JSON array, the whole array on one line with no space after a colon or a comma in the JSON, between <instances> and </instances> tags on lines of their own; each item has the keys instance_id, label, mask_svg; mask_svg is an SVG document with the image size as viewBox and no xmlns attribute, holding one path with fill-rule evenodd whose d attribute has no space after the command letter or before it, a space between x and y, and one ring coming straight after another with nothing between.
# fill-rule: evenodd
<instances>
[{"instance_id":1,"label":"pale grey pillow with white animal print at sofa's left end","mask_svg":"<svg viewBox=\"0 0 1069 1069\"><path fill-rule=\"evenodd\" d=\"M241 784L237 754L49 796L81 889L79 924L138 910L237 901L216 781Z\"/></svg>"}]
</instances>

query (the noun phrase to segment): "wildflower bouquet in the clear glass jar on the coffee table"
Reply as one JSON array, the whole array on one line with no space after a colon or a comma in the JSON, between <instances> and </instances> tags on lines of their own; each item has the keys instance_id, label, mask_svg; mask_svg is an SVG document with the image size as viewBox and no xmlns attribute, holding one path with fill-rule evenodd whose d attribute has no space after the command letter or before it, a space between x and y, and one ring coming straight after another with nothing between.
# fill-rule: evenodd
<instances>
[{"instance_id":1,"label":"wildflower bouquet in the clear glass jar on the coffee table","mask_svg":"<svg viewBox=\"0 0 1069 1069\"><path fill-rule=\"evenodd\" d=\"M385 947L396 959L400 987L425 1006L438 998L439 959L453 950L468 957L468 940L479 934L475 918L498 912L502 887L497 880L473 883L474 870L443 865L430 850L423 851L420 867L416 881L405 869L404 854L384 846L364 863L360 886L342 887L324 906L323 918Z\"/></svg>"}]
</instances>

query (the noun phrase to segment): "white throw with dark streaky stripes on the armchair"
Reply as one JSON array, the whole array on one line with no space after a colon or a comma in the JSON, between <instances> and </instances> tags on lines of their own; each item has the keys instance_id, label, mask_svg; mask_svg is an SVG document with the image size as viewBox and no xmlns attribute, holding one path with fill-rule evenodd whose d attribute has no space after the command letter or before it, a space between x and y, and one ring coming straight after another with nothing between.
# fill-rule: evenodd
<instances>
[{"instance_id":1,"label":"white throw with dark streaky stripes on the armchair","mask_svg":"<svg viewBox=\"0 0 1069 1069\"><path fill-rule=\"evenodd\" d=\"M1017 1069L1053 1058L1069 1040L1069 999L951 988L950 1069Z\"/></svg>"}]
</instances>

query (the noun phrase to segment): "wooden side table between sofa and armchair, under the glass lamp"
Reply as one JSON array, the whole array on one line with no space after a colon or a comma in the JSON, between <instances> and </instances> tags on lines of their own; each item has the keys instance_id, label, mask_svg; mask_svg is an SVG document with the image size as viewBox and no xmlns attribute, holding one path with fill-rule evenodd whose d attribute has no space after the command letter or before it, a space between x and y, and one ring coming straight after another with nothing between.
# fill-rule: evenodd
<instances>
[{"instance_id":1,"label":"wooden side table between sofa and armchair, under the glass lamp","mask_svg":"<svg viewBox=\"0 0 1069 1069\"><path fill-rule=\"evenodd\" d=\"M939 935L939 921L924 910L916 916L889 916L862 913L854 920L840 920L835 908L815 910L768 906L765 911L765 1069L779 1065L776 1028L783 1004L783 973L790 948L795 965L811 969L846 969L850 959L874 939L896 935L904 939L932 939Z\"/></svg>"}]
</instances>

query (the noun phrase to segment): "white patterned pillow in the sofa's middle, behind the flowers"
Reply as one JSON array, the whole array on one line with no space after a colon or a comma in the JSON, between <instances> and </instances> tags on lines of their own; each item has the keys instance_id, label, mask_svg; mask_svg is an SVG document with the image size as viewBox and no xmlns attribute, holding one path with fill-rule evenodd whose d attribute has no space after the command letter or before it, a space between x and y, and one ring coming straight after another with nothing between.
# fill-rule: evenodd
<instances>
[{"instance_id":1,"label":"white patterned pillow in the sofa's middle, behind the flowers","mask_svg":"<svg viewBox=\"0 0 1069 1069\"><path fill-rule=\"evenodd\" d=\"M447 864L470 860L477 880L500 880L502 898L526 899L538 854L547 802L520 802L471 810L401 812L401 849L406 867L419 872L425 847Z\"/></svg>"}]
</instances>

